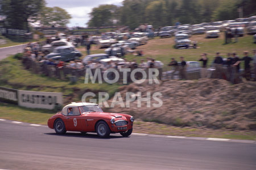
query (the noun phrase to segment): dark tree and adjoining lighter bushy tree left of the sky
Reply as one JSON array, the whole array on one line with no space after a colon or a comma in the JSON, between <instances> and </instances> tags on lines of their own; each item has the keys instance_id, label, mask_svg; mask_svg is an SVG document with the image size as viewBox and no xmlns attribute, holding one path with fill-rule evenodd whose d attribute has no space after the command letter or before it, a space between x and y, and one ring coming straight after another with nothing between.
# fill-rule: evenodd
<instances>
[{"instance_id":1,"label":"dark tree and adjoining lighter bushy tree left of the sky","mask_svg":"<svg viewBox=\"0 0 256 170\"><path fill-rule=\"evenodd\" d=\"M5 16L3 26L29 30L29 22L40 21L43 27L65 27L71 19L63 8L47 7L45 0L0 0L0 15Z\"/></svg>"}]
</instances>

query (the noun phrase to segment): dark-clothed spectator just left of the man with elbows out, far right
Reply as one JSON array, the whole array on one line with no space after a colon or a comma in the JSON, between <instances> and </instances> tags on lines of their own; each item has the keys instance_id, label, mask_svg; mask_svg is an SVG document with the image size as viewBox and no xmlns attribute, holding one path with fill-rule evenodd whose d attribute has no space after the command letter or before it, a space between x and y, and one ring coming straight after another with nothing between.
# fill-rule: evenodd
<instances>
[{"instance_id":1,"label":"dark-clothed spectator just left of the man with elbows out, far right","mask_svg":"<svg viewBox=\"0 0 256 170\"><path fill-rule=\"evenodd\" d=\"M231 74L231 82L233 84L237 84L241 82L240 79L240 58L237 56L236 53L232 54L233 58L232 58L232 74Z\"/></svg>"}]
</instances>

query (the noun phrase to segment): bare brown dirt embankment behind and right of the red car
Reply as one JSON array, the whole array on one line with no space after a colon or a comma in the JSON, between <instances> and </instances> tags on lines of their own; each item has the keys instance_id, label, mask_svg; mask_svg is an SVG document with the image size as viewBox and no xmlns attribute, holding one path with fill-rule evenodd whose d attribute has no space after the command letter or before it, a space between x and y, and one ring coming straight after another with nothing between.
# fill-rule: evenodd
<instances>
[{"instance_id":1,"label":"bare brown dirt embankment behind and right of the red car","mask_svg":"<svg viewBox=\"0 0 256 170\"><path fill-rule=\"evenodd\" d=\"M222 79L166 80L160 84L129 84L120 87L119 92L123 101L126 92L134 92L136 100L131 101L130 107L115 105L109 112L176 126L256 130L256 82L231 85ZM146 101L138 107L138 92L142 98L150 92L150 107ZM162 94L158 96L163 102L161 107L152 105L159 103L152 97L155 92Z\"/></svg>"}]
</instances>

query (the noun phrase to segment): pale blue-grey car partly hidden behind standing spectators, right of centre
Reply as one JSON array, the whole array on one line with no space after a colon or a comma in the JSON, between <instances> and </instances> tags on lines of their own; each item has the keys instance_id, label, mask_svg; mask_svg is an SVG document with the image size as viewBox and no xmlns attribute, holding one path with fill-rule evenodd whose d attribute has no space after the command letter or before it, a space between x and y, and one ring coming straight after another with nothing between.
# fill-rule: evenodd
<instances>
[{"instance_id":1,"label":"pale blue-grey car partly hidden behind standing spectators, right of centre","mask_svg":"<svg viewBox=\"0 0 256 170\"><path fill-rule=\"evenodd\" d=\"M178 62L180 65L180 62ZM197 61L187 61L187 78L188 79L200 79L200 71L201 71L201 65L200 62ZM163 78L168 79L171 77L171 74L174 72L174 70L166 71L163 73ZM174 79L179 79L179 71L176 71L174 73Z\"/></svg>"}]
</instances>

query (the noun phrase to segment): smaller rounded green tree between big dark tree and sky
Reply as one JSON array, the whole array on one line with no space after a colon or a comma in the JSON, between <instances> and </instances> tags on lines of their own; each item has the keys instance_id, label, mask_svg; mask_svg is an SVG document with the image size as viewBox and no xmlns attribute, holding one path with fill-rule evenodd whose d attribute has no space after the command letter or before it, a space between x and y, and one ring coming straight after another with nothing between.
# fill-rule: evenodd
<instances>
[{"instance_id":1,"label":"smaller rounded green tree between big dark tree and sky","mask_svg":"<svg viewBox=\"0 0 256 170\"><path fill-rule=\"evenodd\" d=\"M69 23L71 15L60 7L44 7L39 20L44 26L65 27Z\"/></svg>"}]
</instances>

